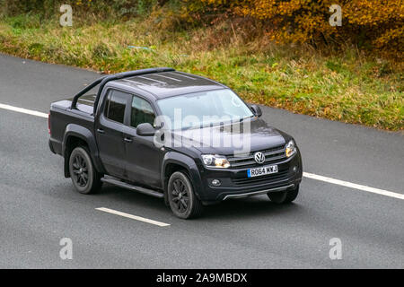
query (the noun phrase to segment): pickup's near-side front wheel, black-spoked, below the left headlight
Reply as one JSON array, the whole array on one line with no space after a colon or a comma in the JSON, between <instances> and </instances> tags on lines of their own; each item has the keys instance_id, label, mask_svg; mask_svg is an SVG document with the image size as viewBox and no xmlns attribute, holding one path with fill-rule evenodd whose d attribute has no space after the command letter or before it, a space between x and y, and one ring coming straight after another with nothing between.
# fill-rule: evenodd
<instances>
[{"instance_id":1,"label":"pickup's near-side front wheel, black-spoked, below the left headlight","mask_svg":"<svg viewBox=\"0 0 404 287\"><path fill-rule=\"evenodd\" d=\"M198 217L203 205L195 195L189 178L181 171L174 172L168 183L168 199L172 213L182 219Z\"/></svg>"}]
</instances>

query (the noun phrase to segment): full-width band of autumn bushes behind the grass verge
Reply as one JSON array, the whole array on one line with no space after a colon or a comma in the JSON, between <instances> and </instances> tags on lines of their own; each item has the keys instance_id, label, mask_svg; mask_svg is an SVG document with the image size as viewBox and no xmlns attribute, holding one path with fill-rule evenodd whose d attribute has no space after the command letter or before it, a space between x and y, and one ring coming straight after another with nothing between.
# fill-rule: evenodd
<instances>
[{"instance_id":1,"label":"full-width band of autumn bushes behind the grass verge","mask_svg":"<svg viewBox=\"0 0 404 287\"><path fill-rule=\"evenodd\" d=\"M240 29L278 43L353 43L394 57L404 54L404 0L0 0L0 14L3 10L47 17L62 3L72 4L76 13L124 21L154 11L157 18L178 24L175 29L242 19ZM335 4L341 7L341 26L329 24L335 13L330 6ZM179 27L181 23L185 25Z\"/></svg>"}]
</instances>

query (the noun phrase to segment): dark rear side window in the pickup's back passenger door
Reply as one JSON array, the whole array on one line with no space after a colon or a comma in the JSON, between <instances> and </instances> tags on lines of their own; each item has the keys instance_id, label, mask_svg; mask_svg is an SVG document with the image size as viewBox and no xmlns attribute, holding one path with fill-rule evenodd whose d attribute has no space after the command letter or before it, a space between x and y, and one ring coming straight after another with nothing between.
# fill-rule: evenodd
<instances>
[{"instance_id":1,"label":"dark rear side window in the pickup's back passenger door","mask_svg":"<svg viewBox=\"0 0 404 287\"><path fill-rule=\"evenodd\" d=\"M123 124L128 94L122 91L110 91L105 105L105 117Z\"/></svg>"}]
</instances>

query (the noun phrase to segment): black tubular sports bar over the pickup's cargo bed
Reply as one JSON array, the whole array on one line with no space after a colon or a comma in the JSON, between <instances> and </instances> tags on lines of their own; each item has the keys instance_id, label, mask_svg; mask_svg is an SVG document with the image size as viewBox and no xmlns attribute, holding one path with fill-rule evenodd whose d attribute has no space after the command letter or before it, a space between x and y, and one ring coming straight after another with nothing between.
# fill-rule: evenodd
<instances>
[{"instance_id":1,"label":"black tubular sports bar over the pickup's cargo bed","mask_svg":"<svg viewBox=\"0 0 404 287\"><path fill-rule=\"evenodd\" d=\"M115 80L119 80L119 79L128 78L128 77L134 77L136 75L154 74L154 73L162 73L162 72L174 72L174 71L175 71L175 69L162 67L162 68L150 68L150 69L129 71L129 72L123 72L123 73L119 73L119 74L110 74L110 75L103 76L100 79L97 79L94 82L92 82L91 84L89 84L82 91L79 91L75 95L75 97L73 98L72 105L71 105L70 108L71 109L77 109L77 100L81 96L83 96L83 94L85 94L87 91L92 90L92 88L94 88L95 86L100 84L100 88L98 89L97 96L96 96L95 101L94 101L93 113L95 114L95 112L97 111L98 102L100 101L100 96L101 96L102 89L104 88L106 83L108 83L110 81L115 81Z\"/></svg>"}]
</instances>

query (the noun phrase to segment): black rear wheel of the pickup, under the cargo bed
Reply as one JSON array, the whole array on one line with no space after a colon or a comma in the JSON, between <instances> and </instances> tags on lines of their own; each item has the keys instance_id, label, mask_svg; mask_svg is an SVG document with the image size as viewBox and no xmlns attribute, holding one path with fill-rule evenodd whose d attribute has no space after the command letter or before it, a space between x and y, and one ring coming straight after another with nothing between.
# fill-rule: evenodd
<instances>
[{"instance_id":1,"label":"black rear wheel of the pickup, under the cargo bed","mask_svg":"<svg viewBox=\"0 0 404 287\"><path fill-rule=\"evenodd\" d=\"M79 146L73 150L69 171L73 186L79 193L89 195L101 188L101 175L95 170L87 148Z\"/></svg>"}]
</instances>

